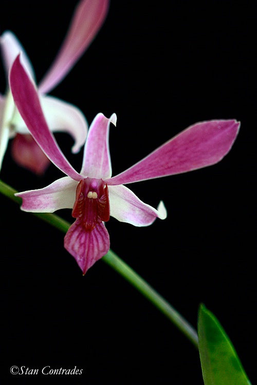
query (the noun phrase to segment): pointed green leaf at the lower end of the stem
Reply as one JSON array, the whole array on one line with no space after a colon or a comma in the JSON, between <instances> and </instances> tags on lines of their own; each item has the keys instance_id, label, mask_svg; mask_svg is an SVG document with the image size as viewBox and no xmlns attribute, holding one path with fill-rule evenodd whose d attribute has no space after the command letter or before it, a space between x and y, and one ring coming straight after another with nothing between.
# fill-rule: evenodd
<instances>
[{"instance_id":1,"label":"pointed green leaf at the lower end of the stem","mask_svg":"<svg viewBox=\"0 0 257 385\"><path fill-rule=\"evenodd\" d=\"M225 330L203 304L198 313L198 338L205 385L251 385Z\"/></svg>"}]
</instances>

